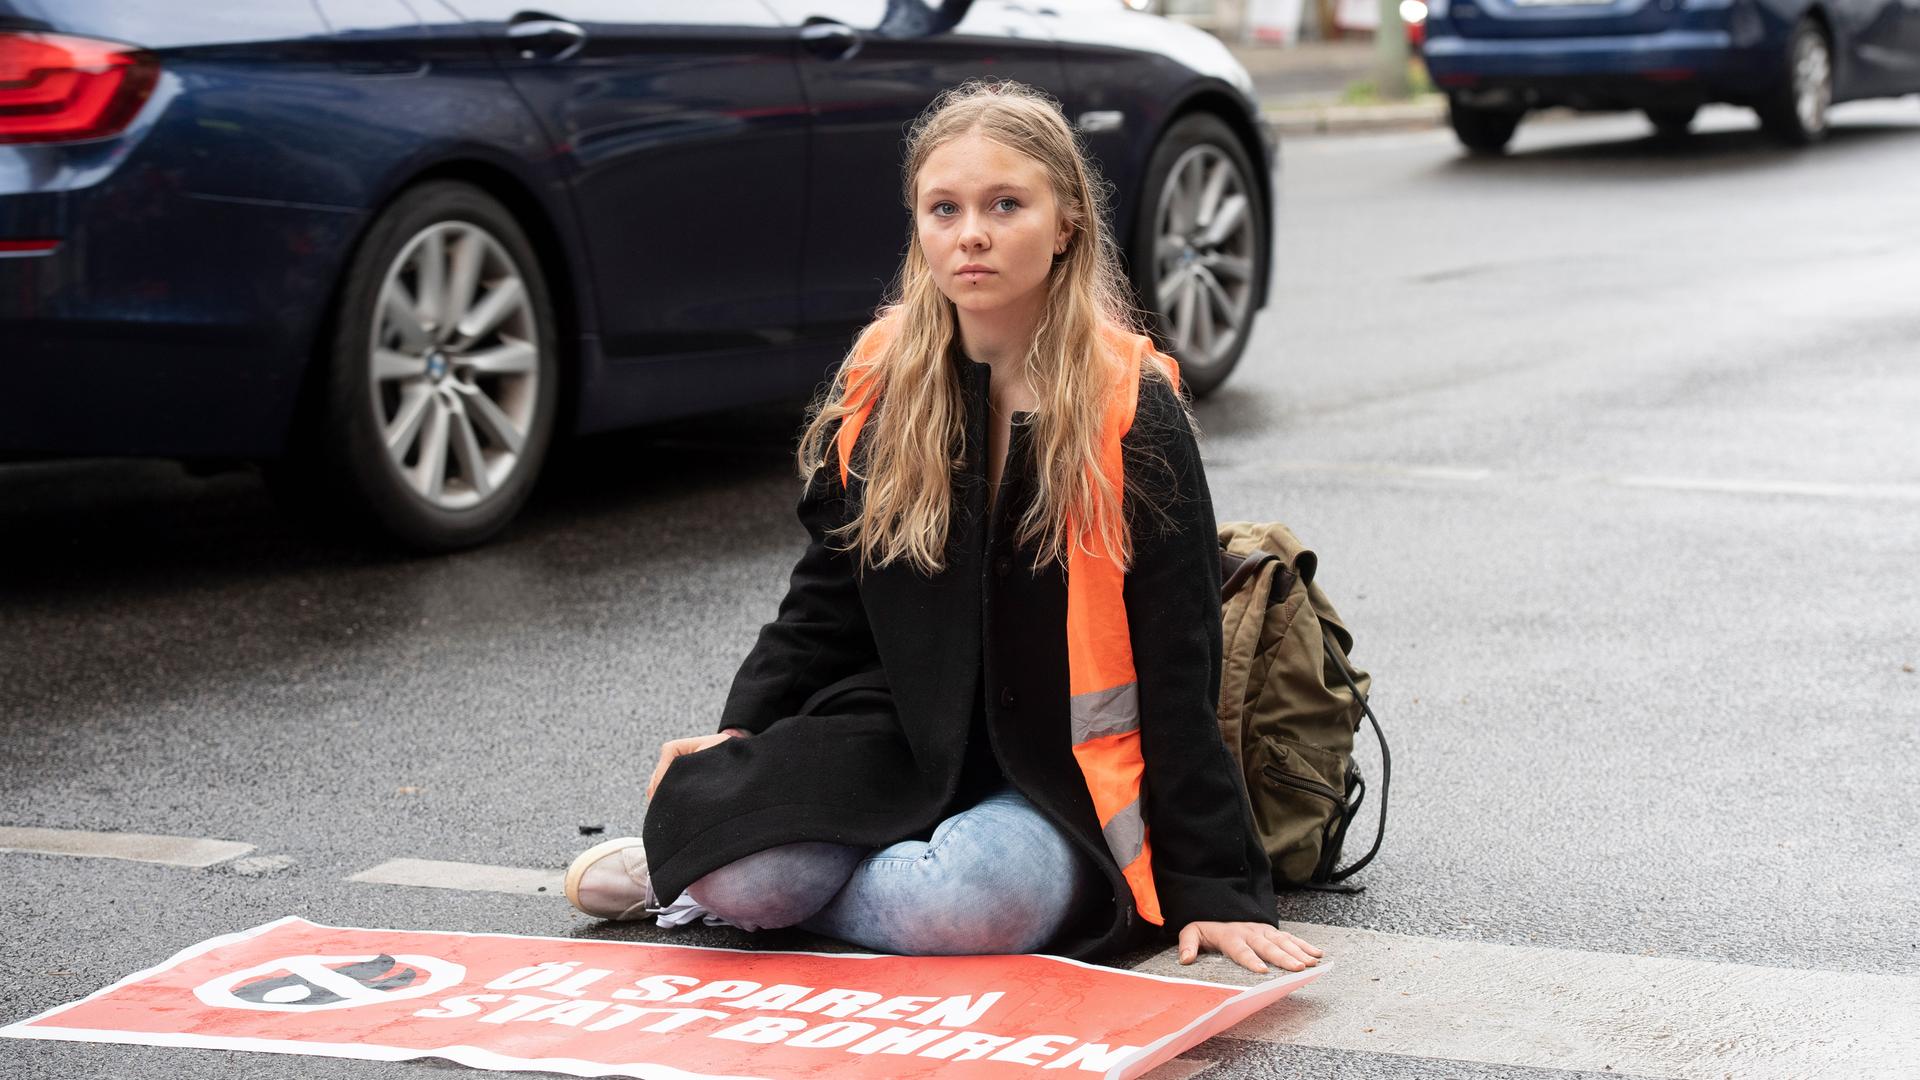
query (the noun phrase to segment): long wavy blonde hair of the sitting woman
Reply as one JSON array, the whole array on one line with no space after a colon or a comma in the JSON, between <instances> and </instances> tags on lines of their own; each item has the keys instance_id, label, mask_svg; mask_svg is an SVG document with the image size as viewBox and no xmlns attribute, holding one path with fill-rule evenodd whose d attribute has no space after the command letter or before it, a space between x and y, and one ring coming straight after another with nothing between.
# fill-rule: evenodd
<instances>
[{"instance_id":1,"label":"long wavy blonde hair of the sitting woman","mask_svg":"<svg viewBox=\"0 0 1920 1080\"><path fill-rule=\"evenodd\" d=\"M852 519L831 530L856 565L885 567L908 559L922 573L945 567L952 482L966 446L960 373L948 359L958 334L952 302L939 290L918 229L920 169L933 150L964 135L983 135L1046 169L1054 202L1069 225L1066 252L1046 279L1046 306L1021 371L1039 396L1033 415L1037 492L1016 527L1016 542L1033 546L1035 571L1066 565L1068 546L1094 538L1121 567L1133 542L1121 479L1100 467L1110 356L1104 332L1137 332L1131 292L1106 225L1106 184L1087 161L1060 106L1021 83L972 81L941 94L914 121L906 146L906 258L876 321L862 331L833 380L808 405L797 452L803 480L828 465L837 471L833 434L858 411L866 392L883 398L860 432L864 454L851 463L864 480ZM1173 377L1160 363L1140 365L1142 380ZM852 384L862 394L849 400ZM1185 407L1183 407L1185 411ZM1190 413L1187 423L1192 425ZM1092 548L1098 552L1100 548Z\"/></svg>"}]
</instances>

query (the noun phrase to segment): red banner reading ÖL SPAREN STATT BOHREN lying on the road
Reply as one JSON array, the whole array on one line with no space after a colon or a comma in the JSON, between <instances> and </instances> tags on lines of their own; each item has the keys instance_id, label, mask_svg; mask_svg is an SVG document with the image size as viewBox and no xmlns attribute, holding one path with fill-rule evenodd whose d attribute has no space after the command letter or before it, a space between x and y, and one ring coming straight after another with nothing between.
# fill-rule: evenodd
<instances>
[{"instance_id":1,"label":"red banner reading \u00d6L SPAREN STATT BOHREN lying on the road","mask_svg":"<svg viewBox=\"0 0 1920 1080\"><path fill-rule=\"evenodd\" d=\"M278 919L0 1036L743 1080L1140 1076L1325 970L1238 988L1058 957L749 953Z\"/></svg>"}]
</instances>

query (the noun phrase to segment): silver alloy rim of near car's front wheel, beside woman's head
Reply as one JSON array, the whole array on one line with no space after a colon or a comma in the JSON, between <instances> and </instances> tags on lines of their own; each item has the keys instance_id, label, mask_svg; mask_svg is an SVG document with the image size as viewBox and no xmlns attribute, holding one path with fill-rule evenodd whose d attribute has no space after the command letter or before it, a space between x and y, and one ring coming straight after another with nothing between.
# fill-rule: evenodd
<instances>
[{"instance_id":1,"label":"silver alloy rim of near car's front wheel, beside woman's head","mask_svg":"<svg viewBox=\"0 0 1920 1080\"><path fill-rule=\"evenodd\" d=\"M1235 356L1254 315L1254 204L1217 146L1190 146L1160 188L1154 302L1183 363Z\"/></svg>"}]
</instances>

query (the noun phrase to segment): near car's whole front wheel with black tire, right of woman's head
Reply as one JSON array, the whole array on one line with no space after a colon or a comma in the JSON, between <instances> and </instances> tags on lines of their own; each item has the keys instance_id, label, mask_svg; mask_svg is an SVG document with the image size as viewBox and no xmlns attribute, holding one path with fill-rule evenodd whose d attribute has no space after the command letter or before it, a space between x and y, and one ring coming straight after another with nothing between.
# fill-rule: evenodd
<instances>
[{"instance_id":1,"label":"near car's whole front wheel with black tire, right of woman's head","mask_svg":"<svg viewBox=\"0 0 1920 1080\"><path fill-rule=\"evenodd\" d=\"M1271 252L1256 177L1240 138L1212 113L1177 119L1146 163L1129 275L1196 400L1233 373L1260 309Z\"/></svg>"}]
</instances>

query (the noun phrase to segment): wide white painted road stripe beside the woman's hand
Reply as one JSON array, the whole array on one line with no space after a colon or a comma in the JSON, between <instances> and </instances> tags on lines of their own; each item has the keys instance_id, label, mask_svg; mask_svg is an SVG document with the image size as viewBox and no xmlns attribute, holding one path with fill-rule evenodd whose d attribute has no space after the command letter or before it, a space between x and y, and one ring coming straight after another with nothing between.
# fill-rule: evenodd
<instances>
[{"instance_id":1,"label":"wide white painted road stripe beside the woman's hand","mask_svg":"<svg viewBox=\"0 0 1920 1080\"><path fill-rule=\"evenodd\" d=\"M1281 926L1338 963L1227 1038L1680 1080L1920 1076L1912 976ZM1173 949L1139 970L1258 978Z\"/></svg>"}]
</instances>

